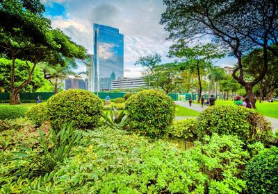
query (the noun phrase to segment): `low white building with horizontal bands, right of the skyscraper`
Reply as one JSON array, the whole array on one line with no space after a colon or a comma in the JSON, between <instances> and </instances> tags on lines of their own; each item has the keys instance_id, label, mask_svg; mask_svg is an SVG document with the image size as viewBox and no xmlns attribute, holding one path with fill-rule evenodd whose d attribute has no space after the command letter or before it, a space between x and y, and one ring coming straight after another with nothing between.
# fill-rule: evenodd
<instances>
[{"instance_id":1,"label":"low white building with horizontal bands, right of the skyscraper","mask_svg":"<svg viewBox=\"0 0 278 194\"><path fill-rule=\"evenodd\" d=\"M138 87L148 87L144 78L124 78L113 80L111 89L136 89Z\"/></svg>"}]
</instances>

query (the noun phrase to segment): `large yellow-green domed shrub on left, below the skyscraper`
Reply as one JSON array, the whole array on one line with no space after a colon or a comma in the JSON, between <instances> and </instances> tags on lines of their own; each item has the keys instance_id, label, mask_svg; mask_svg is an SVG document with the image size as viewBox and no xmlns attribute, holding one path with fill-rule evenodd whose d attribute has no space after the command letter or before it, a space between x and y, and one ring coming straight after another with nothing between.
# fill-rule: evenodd
<instances>
[{"instance_id":1,"label":"large yellow-green domed shrub on left, below the skyscraper","mask_svg":"<svg viewBox=\"0 0 278 194\"><path fill-rule=\"evenodd\" d=\"M103 107L101 99L90 91L69 89L47 100L47 116L55 130L71 122L85 130L99 125Z\"/></svg>"}]
</instances>

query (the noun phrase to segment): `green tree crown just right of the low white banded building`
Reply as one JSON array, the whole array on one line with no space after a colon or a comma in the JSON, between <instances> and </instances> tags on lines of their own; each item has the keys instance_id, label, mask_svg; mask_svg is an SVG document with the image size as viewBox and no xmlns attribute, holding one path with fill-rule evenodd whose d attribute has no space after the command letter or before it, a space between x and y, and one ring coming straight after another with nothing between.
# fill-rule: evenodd
<instances>
[{"instance_id":1,"label":"green tree crown just right of the low white banded building","mask_svg":"<svg viewBox=\"0 0 278 194\"><path fill-rule=\"evenodd\" d=\"M181 83L180 66L175 63L167 63L155 66L152 73L147 74L147 80L152 87L161 87L166 94L177 88Z\"/></svg>"}]
</instances>

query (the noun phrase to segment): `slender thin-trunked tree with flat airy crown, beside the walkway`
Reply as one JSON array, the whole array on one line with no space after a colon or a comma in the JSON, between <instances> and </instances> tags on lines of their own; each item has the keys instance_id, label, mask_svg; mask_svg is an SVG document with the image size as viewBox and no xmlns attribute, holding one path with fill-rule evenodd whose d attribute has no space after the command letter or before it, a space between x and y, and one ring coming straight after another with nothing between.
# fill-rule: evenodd
<instances>
[{"instance_id":1,"label":"slender thin-trunked tree with flat airy crown, beside the walkway","mask_svg":"<svg viewBox=\"0 0 278 194\"><path fill-rule=\"evenodd\" d=\"M202 46L194 46L189 48L183 39L180 39L177 44L170 47L170 57L181 58L183 61L182 69L190 69L190 71L197 71L199 89L198 100L200 103L202 95L201 69L211 68L211 60L221 58L223 53L213 44L205 44Z\"/></svg>"}]
</instances>

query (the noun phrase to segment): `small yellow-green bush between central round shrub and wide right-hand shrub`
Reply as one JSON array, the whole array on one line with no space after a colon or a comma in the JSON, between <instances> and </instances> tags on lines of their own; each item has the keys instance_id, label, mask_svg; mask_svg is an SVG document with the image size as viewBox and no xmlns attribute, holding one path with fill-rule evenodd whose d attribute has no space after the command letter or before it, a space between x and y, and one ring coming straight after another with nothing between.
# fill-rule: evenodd
<instances>
[{"instance_id":1,"label":"small yellow-green bush between central round shrub and wide right-hand shrub","mask_svg":"<svg viewBox=\"0 0 278 194\"><path fill-rule=\"evenodd\" d=\"M185 118L179 121L174 121L169 127L168 135L171 137L179 137L188 141L197 139L197 121L195 118Z\"/></svg>"}]
</instances>

